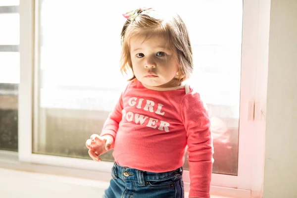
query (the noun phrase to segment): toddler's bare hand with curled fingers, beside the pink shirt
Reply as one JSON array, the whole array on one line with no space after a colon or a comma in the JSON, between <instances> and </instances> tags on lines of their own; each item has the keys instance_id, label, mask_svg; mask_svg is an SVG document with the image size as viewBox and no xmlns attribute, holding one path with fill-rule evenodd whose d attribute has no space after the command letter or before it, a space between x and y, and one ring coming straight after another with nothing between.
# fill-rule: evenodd
<instances>
[{"instance_id":1,"label":"toddler's bare hand with curled fingers, beside the pink shirt","mask_svg":"<svg viewBox=\"0 0 297 198\"><path fill-rule=\"evenodd\" d=\"M86 147L89 149L88 152L92 159L101 161L99 155L113 148L113 137L110 135L100 137L97 134L93 134L91 138L86 141Z\"/></svg>"}]
</instances>

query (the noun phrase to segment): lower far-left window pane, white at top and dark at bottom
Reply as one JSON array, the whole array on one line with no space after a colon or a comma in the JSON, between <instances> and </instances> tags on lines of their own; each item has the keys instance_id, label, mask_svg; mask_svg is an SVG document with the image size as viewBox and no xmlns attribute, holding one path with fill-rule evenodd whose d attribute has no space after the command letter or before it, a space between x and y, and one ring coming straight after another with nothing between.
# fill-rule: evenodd
<instances>
[{"instance_id":1,"label":"lower far-left window pane, white at top and dark at bottom","mask_svg":"<svg viewBox=\"0 0 297 198\"><path fill-rule=\"evenodd\" d=\"M0 149L18 150L19 52L0 52Z\"/></svg>"}]
</instances>

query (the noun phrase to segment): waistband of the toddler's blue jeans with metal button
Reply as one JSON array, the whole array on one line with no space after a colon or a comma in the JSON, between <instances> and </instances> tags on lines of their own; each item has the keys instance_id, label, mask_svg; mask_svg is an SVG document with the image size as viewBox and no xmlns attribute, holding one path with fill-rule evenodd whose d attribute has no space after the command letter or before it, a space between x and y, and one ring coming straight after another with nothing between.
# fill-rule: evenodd
<instances>
[{"instance_id":1,"label":"waistband of the toddler's blue jeans with metal button","mask_svg":"<svg viewBox=\"0 0 297 198\"><path fill-rule=\"evenodd\" d=\"M183 167L177 168L173 171L154 173L142 171L135 168L123 167L116 162L112 167L112 177L116 179L118 176L124 181L134 180L139 182L139 186L145 186L146 181L161 181L170 177L180 177L183 174Z\"/></svg>"}]
</instances>

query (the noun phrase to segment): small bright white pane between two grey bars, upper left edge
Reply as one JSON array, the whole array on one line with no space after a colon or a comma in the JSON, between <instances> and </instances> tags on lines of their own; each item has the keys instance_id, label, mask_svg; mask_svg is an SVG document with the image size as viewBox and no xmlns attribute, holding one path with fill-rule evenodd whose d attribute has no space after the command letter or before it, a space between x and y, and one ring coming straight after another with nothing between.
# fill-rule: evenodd
<instances>
[{"instance_id":1,"label":"small bright white pane between two grey bars, upper left edge","mask_svg":"<svg viewBox=\"0 0 297 198\"><path fill-rule=\"evenodd\" d=\"M0 14L0 45L19 45L19 14Z\"/></svg>"}]
</instances>

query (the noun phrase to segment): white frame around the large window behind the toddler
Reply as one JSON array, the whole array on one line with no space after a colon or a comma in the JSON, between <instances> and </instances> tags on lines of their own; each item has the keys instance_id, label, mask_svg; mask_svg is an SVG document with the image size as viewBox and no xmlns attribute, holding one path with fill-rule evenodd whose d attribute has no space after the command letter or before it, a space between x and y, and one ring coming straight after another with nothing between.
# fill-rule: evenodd
<instances>
[{"instance_id":1,"label":"white frame around the large window behind the toddler","mask_svg":"<svg viewBox=\"0 0 297 198\"><path fill-rule=\"evenodd\" d=\"M242 76L240 102L238 176L212 174L211 192L260 197L264 173L264 137L270 0L244 0L242 41ZM111 162L60 157L32 153L32 132L37 129L33 119L38 104L38 24L39 0L21 0L20 11L20 85L19 85L19 148L21 162L38 163L45 167L78 168L96 171L106 177ZM258 119L249 120L250 101L259 101L260 108L251 112ZM253 106L252 106L253 108ZM260 117L260 118L259 118ZM87 138L87 137L86 137ZM100 165L98 165L100 163ZM91 172L92 172L91 171ZM104 173L104 174L103 174ZM102 180L106 180L102 178ZM185 190L189 190L189 171L185 171Z\"/></svg>"}]
</instances>

